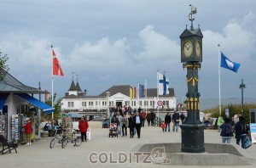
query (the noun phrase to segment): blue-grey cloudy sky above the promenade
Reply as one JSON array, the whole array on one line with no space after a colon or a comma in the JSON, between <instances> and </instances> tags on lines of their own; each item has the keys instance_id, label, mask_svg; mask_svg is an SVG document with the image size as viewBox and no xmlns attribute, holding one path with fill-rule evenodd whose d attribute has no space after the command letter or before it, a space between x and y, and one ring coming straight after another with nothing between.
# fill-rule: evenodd
<instances>
[{"instance_id":1,"label":"blue-grey cloudy sky above the promenade","mask_svg":"<svg viewBox=\"0 0 256 168\"><path fill-rule=\"evenodd\" d=\"M238 73L221 69L222 98L256 98L256 1L247 0L1 0L0 48L9 72L31 87L51 90L52 55L64 77L54 77L63 97L79 74L82 90L98 95L113 85L156 87L156 70L166 71L177 98L187 92L180 62L180 34L190 26L189 4L197 8L203 62L201 98L218 98L218 43ZM76 81L76 76L74 77Z\"/></svg>"}]
</instances>

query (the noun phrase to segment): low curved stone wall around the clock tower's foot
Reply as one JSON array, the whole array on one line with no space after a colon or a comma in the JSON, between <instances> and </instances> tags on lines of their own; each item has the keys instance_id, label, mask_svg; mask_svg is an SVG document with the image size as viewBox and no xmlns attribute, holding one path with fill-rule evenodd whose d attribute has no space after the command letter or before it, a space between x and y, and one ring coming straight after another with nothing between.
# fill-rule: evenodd
<instances>
[{"instance_id":1,"label":"low curved stone wall around the clock tower's foot","mask_svg":"<svg viewBox=\"0 0 256 168\"><path fill-rule=\"evenodd\" d=\"M204 153L182 153L181 143L149 143L138 152L154 153L155 150L166 153L170 165L250 165L246 156L230 144L205 143Z\"/></svg>"}]
</instances>

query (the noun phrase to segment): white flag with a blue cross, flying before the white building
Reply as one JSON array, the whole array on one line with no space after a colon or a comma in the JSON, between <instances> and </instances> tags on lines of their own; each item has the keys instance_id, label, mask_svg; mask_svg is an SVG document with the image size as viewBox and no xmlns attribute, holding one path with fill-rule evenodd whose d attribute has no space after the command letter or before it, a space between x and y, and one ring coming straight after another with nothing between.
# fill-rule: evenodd
<instances>
[{"instance_id":1,"label":"white flag with a blue cross, flying before the white building","mask_svg":"<svg viewBox=\"0 0 256 168\"><path fill-rule=\"evenodd\" d=\"M165 75L157 72L158 76L158 95L169 94L169 80Z\"/></svg>"}]
</instances>

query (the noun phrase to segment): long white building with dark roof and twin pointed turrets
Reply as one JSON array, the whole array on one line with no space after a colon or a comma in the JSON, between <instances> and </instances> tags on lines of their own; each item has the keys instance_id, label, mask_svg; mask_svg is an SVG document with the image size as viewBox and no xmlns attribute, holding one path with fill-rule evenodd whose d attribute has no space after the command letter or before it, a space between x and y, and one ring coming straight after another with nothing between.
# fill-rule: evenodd
<instances>
[{"instance_id":1,"label":"long white building with dark roof and twin pointed turrets","mask_svg":"<svg viewBox=\"0 0 256 168\"><path fill-rule=\"evenodd\" d=\"M155 109L157 108L156 104L162 104L158 106L160 108L176 109L176 97L173 88L169 88L169 95L159 96L159 98L157 98L156 88L145 89L144 92L147 96L143 96L143 98L137 98L137 91L134 93L133 90L135 89L130 85L114 85L100 95L89 96L86 94L86 90L82 92L79 82L75 85L72 81L68 92L62 98L61 110L63 112L106 111L108 103L111 107L120 105L123 107L125 105L131 106L131 109L138 109L139 107L145 110Z\"/></svg>"}]
</instances>

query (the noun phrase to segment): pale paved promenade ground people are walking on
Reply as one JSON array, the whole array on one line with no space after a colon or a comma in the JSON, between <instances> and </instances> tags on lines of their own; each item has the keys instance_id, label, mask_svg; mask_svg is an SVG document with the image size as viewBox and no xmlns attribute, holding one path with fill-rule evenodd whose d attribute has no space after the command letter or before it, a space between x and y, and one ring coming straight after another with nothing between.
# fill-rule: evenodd
<instances>
[{"instance_id":1,"label":"pale paved promenade ground people are walking on","mask_svg":"<svg viewBox=\"0 0 256 168\"><path fill-rule=\"evenodd\" d=\"M127 130L129 131L129 129ZM131 161L123 163L118 162L119 153L134 154L143 144L147 143L181 143L181 132L162 132L160 127L145 126L142 128L141 138L129 137L108 137L108 128L91 128L91 140L82 143L79 147L73 147L72 143L68 143L66 148L61 148L61 144L55 143L54 148L49 148L50 137L42 138L38 142L32 143L31 146L19 146L18 154L0 155L0 167L234 167L228 166L212 166L212 165L163 165L154 163L143 163L143 160L136 160L136 156L132 155ZM217 130L205 130L205 143L221 143L221 137ZM236 145L236 139L232 138L232 145L236 146L242 154L247 156L248 162L253 165L235 165L235 167L255 167L256 145L246 150ZM90 154L94 153L92 160L97 163L90 163ZM106 164L99 163L99 155L102 160L108 157ZM129 156L129 155L128 155ZM112 157L112 158L111 158ZM144 155L143 155L144 157ZM110 161L112 160L112 161ZM136 163L138 161L138 163ZM172 161L172 160L171 160Z\"/></svg>"}]
</instances>

